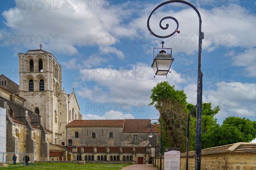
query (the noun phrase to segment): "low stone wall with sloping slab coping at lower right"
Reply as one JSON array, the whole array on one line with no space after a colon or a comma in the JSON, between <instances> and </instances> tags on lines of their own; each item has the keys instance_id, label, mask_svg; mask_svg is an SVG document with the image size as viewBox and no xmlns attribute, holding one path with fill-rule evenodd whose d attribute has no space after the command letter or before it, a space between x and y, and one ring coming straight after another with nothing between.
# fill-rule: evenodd
<instances>
[{"instance_id":1,"label":"low stone wall with sloping slab coping at lower right","mask_svg":"<svg viewBox=\"0 0 256 170\"><path fill-rule=\"evenodd\" d=\"M158 167L160 167L160 159ZM189 170L195 170L195 151L189 152ZM164 160L162 160L162 170ZM186 170L186 153L180 154L180 170ZM256 170L256 143L236 143L201 150L201 170Z\"/></svg>"}]
</instances>

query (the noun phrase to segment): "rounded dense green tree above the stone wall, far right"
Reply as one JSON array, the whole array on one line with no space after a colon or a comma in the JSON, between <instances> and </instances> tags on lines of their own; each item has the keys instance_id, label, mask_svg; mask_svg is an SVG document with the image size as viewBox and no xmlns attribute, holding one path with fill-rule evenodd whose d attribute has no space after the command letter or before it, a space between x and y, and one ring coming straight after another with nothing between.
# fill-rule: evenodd
<instances>
[{"instance_id":1,"label":"rounded dense green tree above the stone wall, far right","mask_svg":"<svg viewBox=\"0 0 256 170\"><path fill-rule=\"evenodd\" d=\"M221 146L237 142L250 142L256 138L256 121L239 117L227 117L223 124L215 127L208 136L208 143Z\"/></svg>"}]
</instances>

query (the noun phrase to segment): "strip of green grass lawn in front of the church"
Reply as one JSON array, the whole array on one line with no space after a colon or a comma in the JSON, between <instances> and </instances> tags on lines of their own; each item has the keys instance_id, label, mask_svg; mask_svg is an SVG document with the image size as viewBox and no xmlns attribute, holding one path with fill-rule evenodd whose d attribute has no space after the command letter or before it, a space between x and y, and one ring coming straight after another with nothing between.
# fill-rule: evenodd
<instances>
[{"instance_id":1,"label":"strip of green grass lawn in front of the church","mask_svg":"<svg viewBox=\"0 0 256 170\"><path fill-rule=\"evenodd\" d=\"M131 164L35 163L29 166L10 165L0 170L121 170Z\"/></svg>"}]
</instances>

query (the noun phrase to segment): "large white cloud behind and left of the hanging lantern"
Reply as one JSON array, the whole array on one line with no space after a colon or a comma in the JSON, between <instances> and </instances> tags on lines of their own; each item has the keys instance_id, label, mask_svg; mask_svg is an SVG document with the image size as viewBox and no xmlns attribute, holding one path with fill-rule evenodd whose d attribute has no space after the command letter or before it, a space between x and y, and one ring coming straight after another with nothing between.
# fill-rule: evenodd
<instances>
[{"instance_id":1,"label":"large white cloud behind and left of the hanging lantern","mask_svg":"<svg viewBox=\"0 0 256 170\"><path fill-rule=\"evenodd\" d=\"M148 105L151 89L158 82L171 81L171 85L177 86L187 82L180 78L179 74L169 74L171 78L164 76L154 78L152 68L143 63L131 65L130 69L81 69L80 74L83 81L96 82L96 85L90 88L92 90L89 93L87 88L81 88L79 96L95 102L119 102L128 103L128 105L134 103Z\"/></svg>"}]
</instances>

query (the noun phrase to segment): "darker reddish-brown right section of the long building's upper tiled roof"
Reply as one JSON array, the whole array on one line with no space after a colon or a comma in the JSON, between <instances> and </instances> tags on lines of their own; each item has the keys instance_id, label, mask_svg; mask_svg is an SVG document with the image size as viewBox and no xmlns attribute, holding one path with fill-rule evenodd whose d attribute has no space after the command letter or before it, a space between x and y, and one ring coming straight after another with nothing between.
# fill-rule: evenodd
<instances>
[{"instance_id":1,"label":"darker reddish-brown right section of the long building's upper tiled roof","mask_svg":"<svg viewBox=\"0 0 256 170\"><path fill-rule=\"evenodd\" d=\"M125 119L124 133L148 133L150 119Z\"/></svg>"}]
</instances>

